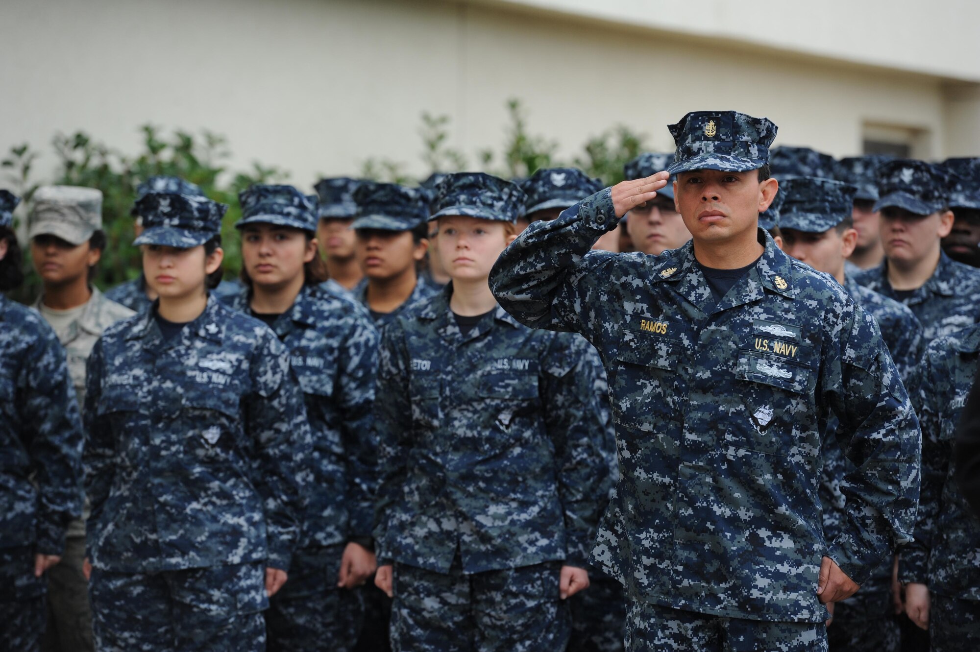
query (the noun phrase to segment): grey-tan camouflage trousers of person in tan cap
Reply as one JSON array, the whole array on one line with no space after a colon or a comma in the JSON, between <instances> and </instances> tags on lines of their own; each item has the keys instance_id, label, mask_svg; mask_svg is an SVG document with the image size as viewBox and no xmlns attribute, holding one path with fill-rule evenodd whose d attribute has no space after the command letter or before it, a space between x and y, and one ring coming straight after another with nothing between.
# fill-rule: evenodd
<instances>
[{"instance_id":1,"label":"grey-tan camouflage trousers of person in tan cap","mask_svg":"<svg viewBox=\"0 0 980 652\"><path fill-rule=\"evenodd\" d=\"M70 536L65 554L48 571L48 629L41 641L42 652L91 652L92 610L88 605L88 581L81 572L85 559L85 537Z\"/></svg>"}]
</instances>

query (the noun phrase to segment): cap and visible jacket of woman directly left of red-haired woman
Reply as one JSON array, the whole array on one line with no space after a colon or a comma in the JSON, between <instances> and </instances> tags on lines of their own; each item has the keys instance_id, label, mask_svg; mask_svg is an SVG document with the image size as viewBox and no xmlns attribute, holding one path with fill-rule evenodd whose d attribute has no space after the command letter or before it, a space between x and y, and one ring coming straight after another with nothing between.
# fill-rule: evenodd
<instances>
[{"instance_id":1,"label":"cap and visible jacket of woman directly left of red-haired woman","mask_svg":"<svg viewBox=\"0 0 980 652\"><path fill-rule=\"evenodd\" d=\"M358 217L351 228L377 231L411 231L425 222L428 216L427 195L416 188L406 188L395 183L365 181L354 192ZM368 307L368 278L365 277L351 291ZM378 329L390 323L402 310L439 292L439 288L419 275L415 289L409 298L391 312L371 312Z\"/></svg>"}]
</instances>

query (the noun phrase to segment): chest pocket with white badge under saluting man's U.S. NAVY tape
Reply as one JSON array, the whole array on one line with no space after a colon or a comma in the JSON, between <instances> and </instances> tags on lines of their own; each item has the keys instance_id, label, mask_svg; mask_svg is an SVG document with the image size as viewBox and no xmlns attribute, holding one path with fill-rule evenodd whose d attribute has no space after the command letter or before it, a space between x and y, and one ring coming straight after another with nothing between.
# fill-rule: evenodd
<instances>
[{"instance_id":1,"label":"chest pocket with white badge under saluting man's U.S. NAVY tape","mask_svg":"<svg viewBox=\"0 0 980 652\"><path fill-rule=\"evenodd\" d=\"M820 452L813 395L816 375L797 361L739 351L726 441L769 455Z\"/></svg>"}]
</instances>

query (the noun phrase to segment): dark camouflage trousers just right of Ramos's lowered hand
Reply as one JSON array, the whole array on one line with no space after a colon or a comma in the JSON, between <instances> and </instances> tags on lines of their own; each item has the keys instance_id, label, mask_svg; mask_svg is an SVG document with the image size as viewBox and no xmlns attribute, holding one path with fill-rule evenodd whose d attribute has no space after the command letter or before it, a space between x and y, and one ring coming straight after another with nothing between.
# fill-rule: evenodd
<instances>
[{"instance_id":1,"label":"dark camouflage trousers just right of Ramos's lowered hand","mask_svg":"<svg viewBox=\"0 0 980 652\"><path fill-rule=\"evenodd\" d=\"M831 652L899 652L902 633L888 591L858 591L834 605L834 620L827 628Z\"/></svg>"}]
</instances>

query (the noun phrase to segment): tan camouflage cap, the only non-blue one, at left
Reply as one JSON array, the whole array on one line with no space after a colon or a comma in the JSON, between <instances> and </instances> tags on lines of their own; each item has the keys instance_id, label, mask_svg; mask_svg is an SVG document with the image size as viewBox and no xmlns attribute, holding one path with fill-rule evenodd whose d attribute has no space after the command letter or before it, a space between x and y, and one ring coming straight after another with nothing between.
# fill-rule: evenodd
<instances>
[{"instance_id":1,"label":"tan camouflage cap, the only non-blue one, at left","mask_svg":"<svg viewBox=\"0 0 980 652\"><path fill-rule=\"evenodd\" d=\"M27 215L27 237L53 235L75 246L102 228L102 191L81 186L41 186Z\"/></svg>"}]
</instances>

